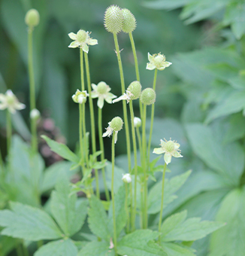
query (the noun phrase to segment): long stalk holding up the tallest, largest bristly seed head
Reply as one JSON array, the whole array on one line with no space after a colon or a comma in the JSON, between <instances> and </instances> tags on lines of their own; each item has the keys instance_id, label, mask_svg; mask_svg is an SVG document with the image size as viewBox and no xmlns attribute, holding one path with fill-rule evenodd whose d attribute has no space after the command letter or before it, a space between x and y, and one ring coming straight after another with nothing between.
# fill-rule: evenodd
<instances>
[{"instance_id":1,"label":"long stalk holding up the tallest, largest bristly seed head","mask_svg":"<svg viewBox=\"0 0 245 256\"><path fill-rule=\"evenodd\" d=\"M114 33L113 33L113 38L114 38L115 47L116 47L116 56L117 56L117 61L119 66L121 88L122 88L122 94L123 94L125 93L125 83L124 83L124 76L123 76L123 70L122 70L122 59L121 59L119 45L117 41L117 35ZM127 107L126 107L125 100L122 100L122 108L123 108L123 119L124 119L125 130L126 130L126 144L127 144L129 172L131 172L131 147L130 147L130 138L129 138L129 122L128 122L128 114L127 114Z\"/></svg>"}]
</instances>

